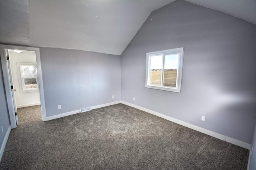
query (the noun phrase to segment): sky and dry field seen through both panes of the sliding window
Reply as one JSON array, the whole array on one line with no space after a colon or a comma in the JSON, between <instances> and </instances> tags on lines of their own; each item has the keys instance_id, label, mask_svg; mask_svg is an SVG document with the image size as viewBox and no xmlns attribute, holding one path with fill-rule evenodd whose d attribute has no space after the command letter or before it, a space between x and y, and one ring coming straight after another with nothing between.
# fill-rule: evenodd
<instances>
[{"instance_id":1,"label":"sky and dry field seen through both panes of the sliding window","mask_svg":"<svg viewBox=\"0 0 256 170\"><path fill-rule=\"evenodd\" d=\"M164 70L162 85L176 87L178 54L155 55L150 57L150 85L161 86L162 70Z\"/></svg>"}]
</instances>

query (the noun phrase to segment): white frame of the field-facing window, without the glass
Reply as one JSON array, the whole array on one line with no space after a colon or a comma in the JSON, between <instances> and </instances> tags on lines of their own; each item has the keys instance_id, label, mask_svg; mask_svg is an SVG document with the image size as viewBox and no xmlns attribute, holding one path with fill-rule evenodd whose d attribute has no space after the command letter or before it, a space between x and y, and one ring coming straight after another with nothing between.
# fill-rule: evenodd
<instances>
[{"instance_id":1,"label":"white frame of the field-facing window, without the glass","mask_svg":"<svg viewBox=\"0 0 256 170\"><path fill-rule=\"evenodd\" d=\"M150 85L151 56L166 55L166 54L179 54L176 87L163 85L163 83L162 83L163 76L161 79L161 85ZM180 93L181 78L182 78L182 66L183 66L183 54L184 54L184 47L146 53L146 85L145 85L145 87L151 88L151 89L158 89L158 90L165 90L165 91L172 91L172 92ZM163 62L162 62L162 72L164 72L164 58L163 58Z\"/></svg>"}]
</instances>

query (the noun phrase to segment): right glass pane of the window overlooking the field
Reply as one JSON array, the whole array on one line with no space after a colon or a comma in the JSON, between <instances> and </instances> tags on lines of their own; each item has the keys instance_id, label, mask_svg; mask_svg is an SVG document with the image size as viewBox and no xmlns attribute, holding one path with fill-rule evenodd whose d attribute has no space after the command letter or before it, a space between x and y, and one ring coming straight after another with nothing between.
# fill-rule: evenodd
<instances>
[{"instance_id":1,"label":"right glass pane of the window overlooking the field","mask_svg":"<svg viewBox=\"0 0 256 170\"><path fill-rule=\"evenodd\" d=\"M165 55L164 57L164 83L166 86L177 86L178 54Z\"/></svg>"}]
</instances>

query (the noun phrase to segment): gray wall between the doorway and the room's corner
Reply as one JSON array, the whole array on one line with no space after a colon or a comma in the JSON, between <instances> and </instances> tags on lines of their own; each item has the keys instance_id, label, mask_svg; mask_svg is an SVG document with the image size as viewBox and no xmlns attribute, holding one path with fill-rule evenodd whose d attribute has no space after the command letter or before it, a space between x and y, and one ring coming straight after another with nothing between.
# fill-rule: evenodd
<instances>
[{"instance_id":1,"label":"gray wall between the doorway and the room's corner","mask_svg":"<svg viewBox=\"0 0 256 170\"><path fill-rule=\"evenodd\" d=\"M120 101L120 55L40 48L40 57L47 117Z\"/></svg>"}]
</instances>

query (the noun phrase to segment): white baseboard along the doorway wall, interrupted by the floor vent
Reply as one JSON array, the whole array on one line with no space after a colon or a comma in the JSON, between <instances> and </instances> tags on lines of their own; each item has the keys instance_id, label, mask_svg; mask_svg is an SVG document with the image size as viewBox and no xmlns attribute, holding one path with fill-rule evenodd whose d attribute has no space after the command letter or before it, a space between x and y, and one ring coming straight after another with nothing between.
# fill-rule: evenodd
<instances>
[{"instance_id":1,"label":"white baseboard along the doorway wall, interrupted by the floor vent","mask_svg":"<svg viewBox=\"0 0 256 170\"><path fill-rule=\"evenodd\" d=\"M98 109L98 108L101 108L101 107L107 107L107 106L111 106L111 105L116 105L118 103L121 103L121 101L114 101L114 102L105 103L105 104L102 104L102 105L91 106L90 108L91 109ZM62 113L62 114L59 114L59 115L54 115L54 116L46 117L46 121L50 121L52 119L58 119L58 118L69 116L69 115L74 115L74 114L77 114L77 113L80 113L80 109L76 110L76 111L71 111L71 112L66 112L66 113Z\"/></svg>"}]
</instances>

